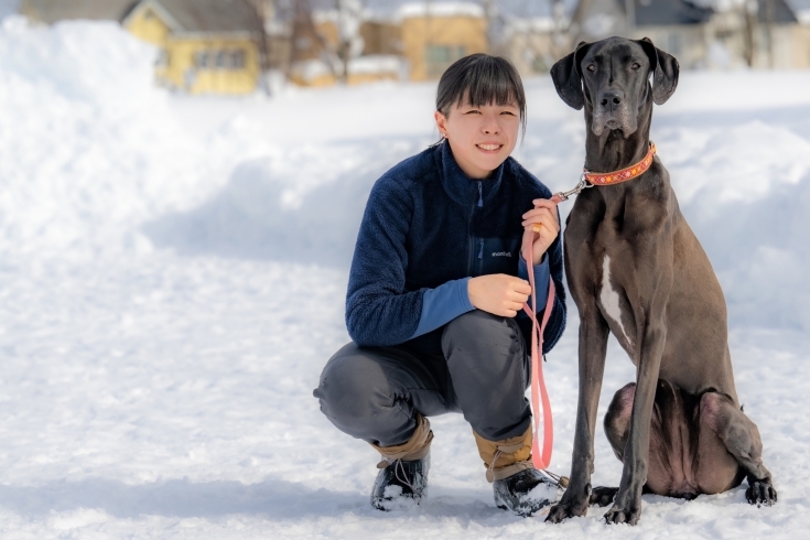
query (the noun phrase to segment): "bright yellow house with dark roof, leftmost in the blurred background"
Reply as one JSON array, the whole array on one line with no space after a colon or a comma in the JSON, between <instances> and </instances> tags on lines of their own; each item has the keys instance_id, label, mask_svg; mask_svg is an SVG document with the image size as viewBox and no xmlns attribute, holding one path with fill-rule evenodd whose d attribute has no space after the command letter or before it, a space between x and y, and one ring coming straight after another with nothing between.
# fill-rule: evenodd
<instances>
[{"instance_id":1,"label":"bright yellow house with dark roof, leftmost in the blurred background","mask_svg":"<svg viewBox=\"0 0 810 540\"><path fill-rule=\"evenodd\" d=\"M260 22L250 0L23 0L20 11L48 24L119 21L160 47L155 77L170 88L249 94L260 79Z\"/></svg>"}]
</instances>

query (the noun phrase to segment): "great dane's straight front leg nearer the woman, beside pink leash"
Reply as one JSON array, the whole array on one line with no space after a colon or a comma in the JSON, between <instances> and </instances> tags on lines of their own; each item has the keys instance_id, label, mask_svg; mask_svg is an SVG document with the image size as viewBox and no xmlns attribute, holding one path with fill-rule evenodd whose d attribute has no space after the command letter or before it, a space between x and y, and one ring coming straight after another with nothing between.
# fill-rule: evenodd
<instances>
[{"instance_id":1,"label":"great dane's straight front leg nearer the woman, beside pink leash","mask_svg":"<svg viewBox=\"0 0 810 540\"><path fill-rule=\"evenodd\" d=\"M591 495L594 469L594 430L600 404L602 378L607 350L607 323L596 305L580 307L580 397L576 407L574 451L571 458L571 480L560 503L551 507L547 521L584 516Z\"/></svg>"}]
</instances>

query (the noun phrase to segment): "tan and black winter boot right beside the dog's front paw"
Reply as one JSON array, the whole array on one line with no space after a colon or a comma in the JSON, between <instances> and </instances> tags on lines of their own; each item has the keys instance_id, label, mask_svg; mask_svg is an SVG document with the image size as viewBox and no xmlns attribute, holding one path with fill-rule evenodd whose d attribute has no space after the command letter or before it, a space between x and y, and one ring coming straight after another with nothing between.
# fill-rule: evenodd
<instances>
[{"instance_id":1,"label":"tan and black winter boot right beside the dog's front paw","mask_svg":"<svg viewBox=\"0 0 810 540\"><path fill-rule=\"evenodd\" d=\"M558 499L558 482L531 463L531 425L522 435L503 441L473 434L498 508L528 517Z\"/></svg>"}]
</instances>

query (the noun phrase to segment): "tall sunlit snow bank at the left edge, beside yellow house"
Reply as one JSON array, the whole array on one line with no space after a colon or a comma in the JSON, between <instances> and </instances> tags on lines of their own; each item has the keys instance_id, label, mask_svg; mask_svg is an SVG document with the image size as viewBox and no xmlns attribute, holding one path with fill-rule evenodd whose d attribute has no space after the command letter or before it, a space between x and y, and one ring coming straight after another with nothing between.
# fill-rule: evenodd
<instances>
[{"instance_id":1,"label":"tall sunlit snow bank at the left edge, beside yellow house","mask_svg":"<svg viewBox=\"0 0 810 540\"><path fill-rule=\"evenodd\" d=\"M114 23L0 22L0 251L128 249L205 183L154 55Z\"/></svg>"}]
</instances>

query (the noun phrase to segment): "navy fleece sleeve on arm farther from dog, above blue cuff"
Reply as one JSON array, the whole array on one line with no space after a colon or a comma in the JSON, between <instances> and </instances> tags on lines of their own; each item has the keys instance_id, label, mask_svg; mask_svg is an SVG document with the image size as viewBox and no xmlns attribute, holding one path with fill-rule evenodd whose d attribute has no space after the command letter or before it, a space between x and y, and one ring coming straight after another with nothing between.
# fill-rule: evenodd
<instances>
[{"instance_id":1,"label":"navy fleece sleeve on arm farther from dog, above blue cuff","mask_svg":"<svg viewBox=\"0 0 810 540\"><path fill-rule=\"evenodd\" d=\"M377 181L357 235L346 295L346 327L357 345L398 345L419 325L424 290L404 292L412 214L412 198L401 183L386 175Z\"/></svg>"}]
</instances>

